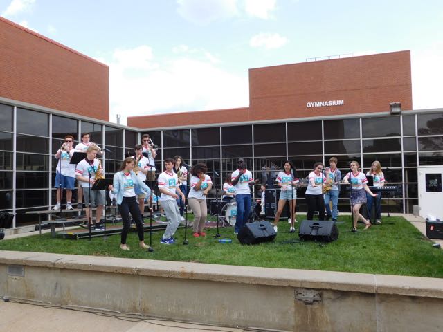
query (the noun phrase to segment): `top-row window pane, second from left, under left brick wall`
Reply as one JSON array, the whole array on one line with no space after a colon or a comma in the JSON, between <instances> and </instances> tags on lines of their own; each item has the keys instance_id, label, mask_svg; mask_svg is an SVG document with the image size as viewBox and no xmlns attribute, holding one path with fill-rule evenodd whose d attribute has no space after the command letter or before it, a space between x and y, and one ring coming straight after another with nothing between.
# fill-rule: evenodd
<instances>
[{"instance_id":1,"label":"top-row window pane, second from left, under left brick wall","mask_svg":"<svg viewBox=\"0 0 443 332\"><path fill-rule=\"evenodd\" d=\"M48 114L17 108L17 133L48 136Z\"/></svg>"}]
</instances>

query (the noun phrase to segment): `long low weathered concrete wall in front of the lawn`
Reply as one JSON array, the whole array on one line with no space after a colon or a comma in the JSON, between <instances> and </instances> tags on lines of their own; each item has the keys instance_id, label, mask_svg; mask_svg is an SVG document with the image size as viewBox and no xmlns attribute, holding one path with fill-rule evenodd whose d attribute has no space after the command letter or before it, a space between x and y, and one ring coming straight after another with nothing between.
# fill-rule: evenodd
<instances>
[{"instance_id":1,"label":"long low weathered concrete wall in front of the lawn","mask_svg":"<svg viewBox=\"0 0 443 332\"><path fill-rule=\"evenodd\" d=\"M422 277L3 251L0 296L283 331L443 329L443 280Z\"/></svg>"}]
</instances>

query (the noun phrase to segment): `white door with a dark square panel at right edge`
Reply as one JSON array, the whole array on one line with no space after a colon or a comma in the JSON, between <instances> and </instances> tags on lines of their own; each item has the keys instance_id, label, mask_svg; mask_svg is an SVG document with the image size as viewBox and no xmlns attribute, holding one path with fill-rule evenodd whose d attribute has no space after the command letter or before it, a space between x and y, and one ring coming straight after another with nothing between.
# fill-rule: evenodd
<instances>
[{"instance_id":1,"label":"white door with a dark square panel at right edge","mask_svg":"<svg viewBox=\"0 0 443 332\"><path fill-rule=\"evenodd\" d=\"M443 220L442 179L442 166L418 168L418 205L423 218L431 215Z\"/></svg>"}]
</instances>

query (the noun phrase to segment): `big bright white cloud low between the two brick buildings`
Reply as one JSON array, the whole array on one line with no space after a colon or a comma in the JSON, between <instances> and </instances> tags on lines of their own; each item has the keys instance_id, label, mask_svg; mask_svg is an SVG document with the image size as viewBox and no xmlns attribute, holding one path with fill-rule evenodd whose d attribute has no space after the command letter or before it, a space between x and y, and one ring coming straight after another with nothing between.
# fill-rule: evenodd
<instances>
[{"instance_id":1,"label":"big bright white cloud low between the two brick buildings","mask_svg":"<svg viewBox=\"0 0 443 332\"><path fill-rule=\"evenodd\" d=\"M156 61L149 46L114 51L108 63L112 121L116 114L126 123L127 116L248 106L247 72L228 73L205 59L204 51L174 56Z\"/></svg>"}]
</instances>

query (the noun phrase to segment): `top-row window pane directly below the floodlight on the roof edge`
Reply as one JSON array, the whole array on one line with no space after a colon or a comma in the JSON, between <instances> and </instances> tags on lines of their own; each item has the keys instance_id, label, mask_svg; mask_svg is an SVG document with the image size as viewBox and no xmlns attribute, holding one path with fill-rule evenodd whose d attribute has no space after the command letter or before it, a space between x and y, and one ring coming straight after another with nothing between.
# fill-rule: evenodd
<instances>
[{"instance_id":1,"label":"top-row window pane directly below the floodlight on the roof edge","mask_svg":"<svg viewBox=\"0 0 443 332\"><path fill-rule=\"evenodd\" d=\"M400 117L363 118L361 129L363 137L400 136Z\"/></svg>"}]
</instances>

